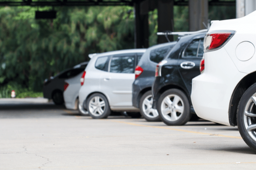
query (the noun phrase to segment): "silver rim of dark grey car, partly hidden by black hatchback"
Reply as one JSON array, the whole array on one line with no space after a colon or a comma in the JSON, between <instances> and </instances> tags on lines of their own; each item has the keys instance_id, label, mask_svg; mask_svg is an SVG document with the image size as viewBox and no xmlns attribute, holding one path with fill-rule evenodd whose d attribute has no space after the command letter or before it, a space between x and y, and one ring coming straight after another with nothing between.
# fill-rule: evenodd
<instances>
[{"instance_id":1,"label":"silver rim of dark grey car, partly hidden by black hatchback","mask_svg":"<svg viewBox=\"0 0 256 170\"><path fill-rule=\"evenodd\" d=\"M148 95L142 102L142 110L143 113L149 118L156 118L158 116L158 112L156 109L152 108L153 98L152 94Z\"/></svg>"}]
</instances>

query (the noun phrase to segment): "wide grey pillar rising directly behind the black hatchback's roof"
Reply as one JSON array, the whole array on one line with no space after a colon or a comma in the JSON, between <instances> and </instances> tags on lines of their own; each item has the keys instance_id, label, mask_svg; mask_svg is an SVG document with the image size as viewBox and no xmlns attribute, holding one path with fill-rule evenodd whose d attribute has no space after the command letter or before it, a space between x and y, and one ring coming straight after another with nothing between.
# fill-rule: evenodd
<instances>
[{"instance_id":1,"label":"wide grey pillar rising directly behind the black hatchback's roof","mask_svg":"<svg viewBox=\"0 0 256 170\"><path fill-rule=\"evenodd\" d=\"M189 31L206 29L208 23L208 0L189 0Z\"/></svg>"}]
</instances>

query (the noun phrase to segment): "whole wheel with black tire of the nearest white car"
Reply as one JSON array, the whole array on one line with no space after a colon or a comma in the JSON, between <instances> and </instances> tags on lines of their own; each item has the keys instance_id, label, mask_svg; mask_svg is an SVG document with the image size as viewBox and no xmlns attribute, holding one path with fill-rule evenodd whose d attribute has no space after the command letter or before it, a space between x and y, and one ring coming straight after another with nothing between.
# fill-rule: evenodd
<instances>
[{"instance_id":1,"label":"whole wheel with black tire of the nearest white car","mask_svg":"<svg viewBox=\"0 0 256 170\"><path fill-rule=\"evenodd\" d=\"M237 107L237 127L245 143L256 152L256 83L241 97Z\"/></svg>"}]
</instances>

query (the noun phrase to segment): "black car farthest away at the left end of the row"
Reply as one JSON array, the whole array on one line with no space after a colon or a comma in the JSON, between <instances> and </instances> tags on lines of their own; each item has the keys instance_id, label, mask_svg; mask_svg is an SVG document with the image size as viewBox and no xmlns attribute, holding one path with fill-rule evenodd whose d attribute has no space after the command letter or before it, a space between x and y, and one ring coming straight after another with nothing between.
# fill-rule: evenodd
<instances>
[{"instance_id":1,"label":"black car farthest away at the left end of the row","mask_svg":"<svg viewBox=\"0 0 256 170\"><path fill-rule=\"evenodd\" d=\"M83 72L88 62L80 63L73 68L68 68L50 79L45 79L43 85L44 98L52 99L56 105L62 105L64 103L63 91L64 80L74 77Z\"/></svg>"}]
</instances>

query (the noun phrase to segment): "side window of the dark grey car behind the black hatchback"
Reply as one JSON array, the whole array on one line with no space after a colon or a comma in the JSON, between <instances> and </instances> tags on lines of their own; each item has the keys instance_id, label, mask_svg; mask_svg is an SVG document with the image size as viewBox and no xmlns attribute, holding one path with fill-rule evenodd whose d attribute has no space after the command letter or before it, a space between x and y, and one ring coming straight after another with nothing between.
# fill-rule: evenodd
<instances>
[{"instance_id":1,"label":"side window of the dark grey car behind the black hatchback","mask_svg":"<svg viewBox=\"0 0 256 170\"><path fill-rule=\"evenodd\" d=\"M155 63L163 60L165 55L171 50L170 46L164 46L155 50L151 50L149 59Z\"/></svg>"}]
</instances>

